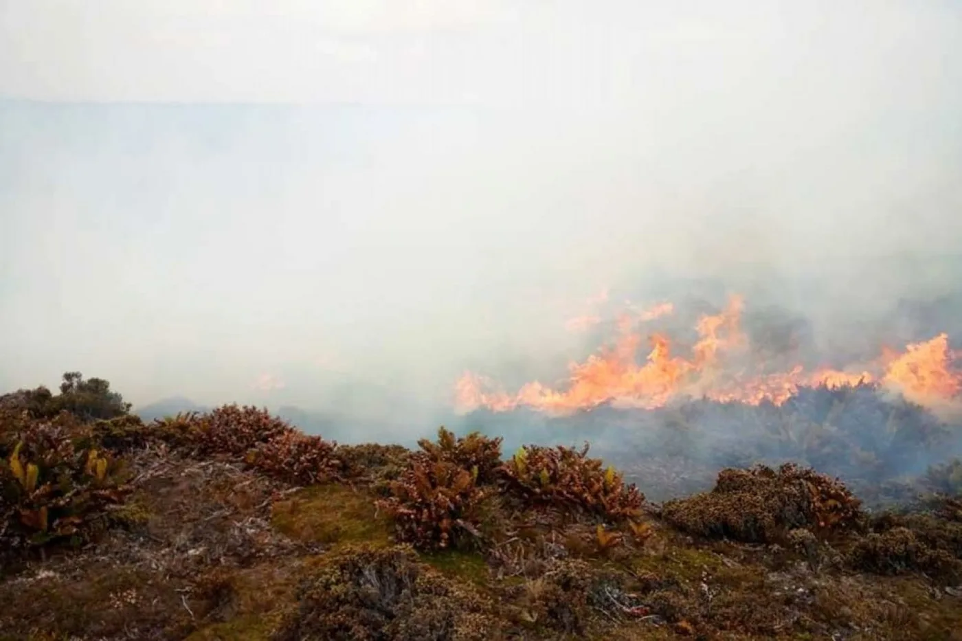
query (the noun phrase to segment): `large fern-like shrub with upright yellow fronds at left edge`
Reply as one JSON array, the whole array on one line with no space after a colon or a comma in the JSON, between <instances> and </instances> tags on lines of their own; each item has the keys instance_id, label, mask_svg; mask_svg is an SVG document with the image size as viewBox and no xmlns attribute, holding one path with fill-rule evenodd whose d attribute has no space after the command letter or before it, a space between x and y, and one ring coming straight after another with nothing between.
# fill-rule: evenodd
<instances>
[{"instance_id":1,"label":"large fern-like shrub with upright yellow fronds at left edge","mask_svg":"<svg viewBox=\"0 0 962 641\"><path fill-rule=\"evenodd\" d=\"M65 423L65 424L64 424ZM121 461L75 447L69 422L32 422L0 465L0 542L10 550L89 540L130 492Z\"/></svg>"}]
</instances>

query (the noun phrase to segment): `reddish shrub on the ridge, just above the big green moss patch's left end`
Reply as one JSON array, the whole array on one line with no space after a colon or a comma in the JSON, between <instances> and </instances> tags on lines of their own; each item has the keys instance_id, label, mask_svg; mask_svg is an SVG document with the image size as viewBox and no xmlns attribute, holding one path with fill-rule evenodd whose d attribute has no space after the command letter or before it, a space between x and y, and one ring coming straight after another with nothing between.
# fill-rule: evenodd
<instances>
[{"instance_id":1,"label":"reddish shrub on the ridge, just above the big green moss patch's left end","mask_svg":"<svg viewBox=\"0 0 962 641\"><path fill-rule=\"evenodd\" d=\"M319 436L283 432L259 444L248 455L248 462L289 483L311 485L339 475L341 462L334 457L336 447L336 443Z\"/></svg>"}]
</instances>

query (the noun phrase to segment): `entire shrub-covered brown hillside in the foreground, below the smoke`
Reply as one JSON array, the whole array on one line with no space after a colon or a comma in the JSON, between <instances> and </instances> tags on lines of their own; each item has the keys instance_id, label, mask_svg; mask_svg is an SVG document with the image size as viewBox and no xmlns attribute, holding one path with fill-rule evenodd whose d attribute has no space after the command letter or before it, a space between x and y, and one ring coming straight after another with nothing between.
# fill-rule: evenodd
<instances>
[{"instance_id":1,"label":"entire shrub-covered brown hillside in the foreground, below the smoke","mask_svg":"<svg viewBox=\"0 0 962 641\"><path fill-rule=\"evenodd\" d=\"M87 382L0 402L0 639L962 638L958 461L886 512L791 464L655 503L583 449L145 423Z\"/></svg>"}]
</instances>

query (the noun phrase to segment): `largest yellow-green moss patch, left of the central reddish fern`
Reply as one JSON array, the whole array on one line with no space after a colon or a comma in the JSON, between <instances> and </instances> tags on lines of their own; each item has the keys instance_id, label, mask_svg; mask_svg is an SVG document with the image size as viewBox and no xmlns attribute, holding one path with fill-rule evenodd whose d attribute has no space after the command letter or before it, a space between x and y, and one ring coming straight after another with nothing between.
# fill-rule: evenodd
<instances>
[{"instance_id":1,"label":"largest yellow-green moss patch, left of the central reddish fern","mask_svg":"<svg viewBox=\"0 0 962 641\"><path fill-rule=\"evenodd\" d=\"M305 543L389 545L391 522L380 515L367 491L329 484L305 488L290 499L275 502L271 523Z\"/></svg>"}]
</instances>

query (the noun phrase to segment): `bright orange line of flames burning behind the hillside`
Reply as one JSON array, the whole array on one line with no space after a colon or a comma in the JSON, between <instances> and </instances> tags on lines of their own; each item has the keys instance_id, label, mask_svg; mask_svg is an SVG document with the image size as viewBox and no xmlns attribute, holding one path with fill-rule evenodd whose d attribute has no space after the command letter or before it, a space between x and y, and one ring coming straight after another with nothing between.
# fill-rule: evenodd
<instances>
[{"instance_id":1,"label":"bright orange line of flames burning behind the hillside","mask_svg":"<svg viewBox=\"0 0 962 641\"><path fill-rule=\"evenodd\" d=\"M883 348L880 358L861 368L805 371L797 365L785 372L766 372L747 358L750 346L741 328L743 309L743 299L732 296L722 312L698 319L697 339L688 356L674 353L669 336L651 333L645 341L639 331L640 324L671 315L671 303L646 310L630 309L616 319L618 337L612 345L602 347L583 362L570 364L563 389L534 381L523 385L517 394L509 394L494 381L467 372L456 386L456 406L461 412L479 408L506 412L527 407L565 415L604 403L651 409L679 397L781 404L802 386L838 388L860 382L877 383L929 405L962 393L962 373L952 368L954 355L945 334L909 345L903 352ZM586 318L592 320L590 324L601 322L597 316ZM639 361L643 345L646 357Z\"/></svg>"}]
</instances>

